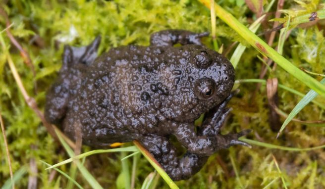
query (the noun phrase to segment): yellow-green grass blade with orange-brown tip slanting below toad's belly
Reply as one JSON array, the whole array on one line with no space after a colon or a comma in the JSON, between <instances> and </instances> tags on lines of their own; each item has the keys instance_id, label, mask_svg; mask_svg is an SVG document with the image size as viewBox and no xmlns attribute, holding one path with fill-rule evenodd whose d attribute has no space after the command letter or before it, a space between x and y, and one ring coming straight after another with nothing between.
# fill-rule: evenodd
<instances>
[{"instance_id":1,"label":"yellow-green grass blade with orange-brown tip slanting below toad's belly","mask_svg":"<svg viewBox=\"0 0 325 189\"><path fill-rule=\"evenodd\" d=\"M149 161L149 163L156 169L156 171L162 176L162 179L167 183L169 188L171 189L179 189L173 180L167 175L167 173L162 169L160 164L155 160L155 158L149 153L139 142L133 142L135 146L138 147L140 152L145 156L145 158Z\"/></svg>"}]
</instances>

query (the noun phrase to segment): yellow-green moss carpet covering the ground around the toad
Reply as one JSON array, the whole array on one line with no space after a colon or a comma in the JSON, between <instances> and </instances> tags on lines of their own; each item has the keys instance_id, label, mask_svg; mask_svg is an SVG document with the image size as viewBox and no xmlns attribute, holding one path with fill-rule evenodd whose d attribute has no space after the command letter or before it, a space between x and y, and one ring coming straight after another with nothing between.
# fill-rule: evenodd
<instances>
[{"instance_id":1,"label":"yellow-green moss carpet covering the ground around the toad","mask_svg":"<svg viewBox=\"0 0 325 189\"><path fill-rule=\"evenodd\" d=\"M284 8L288 15L303 15L320 7L319 0L302 0L300 4L286 1ZM241 23L248 25L254 19L253 13L243 4L243 0L223 0L220 5L232 13ZM35 67L34 78L31 69L24 64L19 51L11 45L10 56L21 76L27 92L34 96L39 107L45 103L46 90L56 77L61 65L61 53L64 44L82 46L89 44L97 35L103 37L100 52L110 47L137 44L149 45L149 36L155 31L167 28L186 29L195 32L211 31L210 11L196 0L9 0L4 4L9 19L14 25L11 33L31 56ZM275 11L275 6L271 10ZM282 16L283 21L288 17ZM3 17L0 17L0 30L5 28ZM264 26L265 27L265 26ZM284 44L283 56L298 67L323 73L325 67L324 22L318 26L294 28ZM262 33L266 28L260 29ZM2 33L5 36L5 32ZM265 37L261 36L264 40ZM277 40L277 36L276 36ZM272 47L276 47L276 40ZM238 34L217 19L217 42L227 49L233 42L239 41L248 46ZM5 43L10 41L5 37ZM205 39L208 47L213 47L212 39ZM1 49L2 50L2 49ZM230 50L228 58L233 49ZM2 52L2 51L1 51ZM254 48L244 52L236 69L236 79L259 78L262 62L257 58L259 53ZM308 88L302 85L281 68L276 68L267 77L276 77L279 83L307 93ZM317 78L320 79L320 78ZM37 83L35 92L34 81ZM235 132L251 128L254 134L249 138L292 147L311 147L324 143L324 127L311 127L298 122L291 122L283 135L275 140L276 133L269 126L269 109L265 87L256 90L256 84L245 83L238 86L240 94L236 95L229 106L233 107L222 132ZM289 113L301 99L295 94L279 89L279 108ZM325 99L317 97L321 103ZM55 176L50 181L50 172L39 160L55 164L68 156L59 144L47 134L46 129L36 114L27 106L6 64L6 54L0 53L0 110L6 127L12 168L16 172L21 166L29 166L30 158L34 158L38 168L39 188L61 188L67 185L64 177ZM306 106L297 116L302 120L324 120L324 110L315 104ZM284 119L281 118L282 122ZM9 179L9 169L5 156L5 148L0 137L0 186ZM84 150L89 150L84 147ZM279 164L277 170L272 154ZM233 159L231 163L230 157ZM234 146L229 150L221 150L213 155L206 166L188 181L176 184L180 188L191 189L228 189L228 188L284 188L280 176L288 188L324 188L325 182L324 150L306 152L287 152L265 147L253 146L252 149ZM218 160L217 160L218 159ZM223 167L220 166L220 160ZM88 157L85 166L104 188L116 188L116 180L121 173L119 154L101 154ZM153 168L145 159L138 161L136 188ZM238 177L234 172L238 171ZM70 164L60 167L69 173ZM225 174L227 170L228 175ZM77 174L76 181L84 188L88 183ZM26 188L28 176L25 175L16 184L17 188ZM159 188L167 188L163 181Z\"/></svg>"}]
</instances>

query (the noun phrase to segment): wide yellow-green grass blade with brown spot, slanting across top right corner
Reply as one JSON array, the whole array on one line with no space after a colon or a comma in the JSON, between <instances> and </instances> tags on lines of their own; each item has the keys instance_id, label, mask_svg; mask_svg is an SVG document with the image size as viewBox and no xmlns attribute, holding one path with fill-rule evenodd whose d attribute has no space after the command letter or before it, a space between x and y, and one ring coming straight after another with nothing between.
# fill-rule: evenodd
<instances>
[{"instance_id":1,"label":"wide yellow-green grass blade with brown spot, slanting across top right corner","mask_svg":"<svg viewBox=\"0 0 325 189\"><path fill-rule=\"evenodd\" d=\"M210 0L200 0L208 8L210 8ZM215 9L217 16L223 20L229 27L235 30L242 38L244 38L252 47L256 48L263 55L270 57L274 62L276 62L285 71L291 74L293 77L304 83L309 88L316 91L321 96L325 97L325 86L323 86L316 79L309 76L307 73L303 72L296 66L294 66L290 61L281 56L272 47L268 46L262 39L255 35L252 31L246 28L242 23L240 23L233 15L224 10L220 5L215 3Z\"/></svg>"}]
</instances>

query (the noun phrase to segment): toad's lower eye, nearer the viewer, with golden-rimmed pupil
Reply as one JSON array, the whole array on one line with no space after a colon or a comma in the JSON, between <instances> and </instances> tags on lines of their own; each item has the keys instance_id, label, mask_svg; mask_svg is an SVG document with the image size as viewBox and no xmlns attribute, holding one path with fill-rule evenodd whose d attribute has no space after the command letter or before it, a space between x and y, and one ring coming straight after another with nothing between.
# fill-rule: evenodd
<instances>
[{"instance_id":1,"label":"toad's lower eye, nearer the viewer, with golden-rimmed pupil","mask_svg":"<svg viewBox=\"0 0 325 189\"><path fill-rule=\"evenodd\" d=\"M200 99L210 99L217 90L216 82L212 79L203 78L195 82L194 93Z\"/></svg>"}]
</instances>

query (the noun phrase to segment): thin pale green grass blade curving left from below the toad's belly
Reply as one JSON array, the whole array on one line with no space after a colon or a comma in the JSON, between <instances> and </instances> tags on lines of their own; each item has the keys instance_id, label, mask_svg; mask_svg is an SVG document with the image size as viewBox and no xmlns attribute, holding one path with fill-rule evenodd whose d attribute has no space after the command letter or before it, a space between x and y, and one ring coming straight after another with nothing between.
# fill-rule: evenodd
<instances>
[{"instance_id":1,"label":"thin pale green grass blade curving left from below the toad's belly","mask_svg":"<svg viewBox=\"0 0 325 189\"><path fill-rule=\"evenodd\" d=\"M136 151L138 151L138 149L135 146L113 148L113 149L96 149L96 150L92 150L92 151L87 151L85 153L82 153L82 154L79 154L79 155L76 155L76 156L72 156L71 158L66 159L64 161L61 161L61 162L59 162L59 163L57 163L55 165L52 165L51 167L48 167L46 169L52 169L54 167L57 167L57 166L60 166L60 165L66 164L66 163L70 163L70 162L72 162L72 161L74 161L76 159L82 159L84 157L94 155L94 154L97 154L97 153L121 152L121 151L136 152Z\"/></svg>"}]
</instances>

